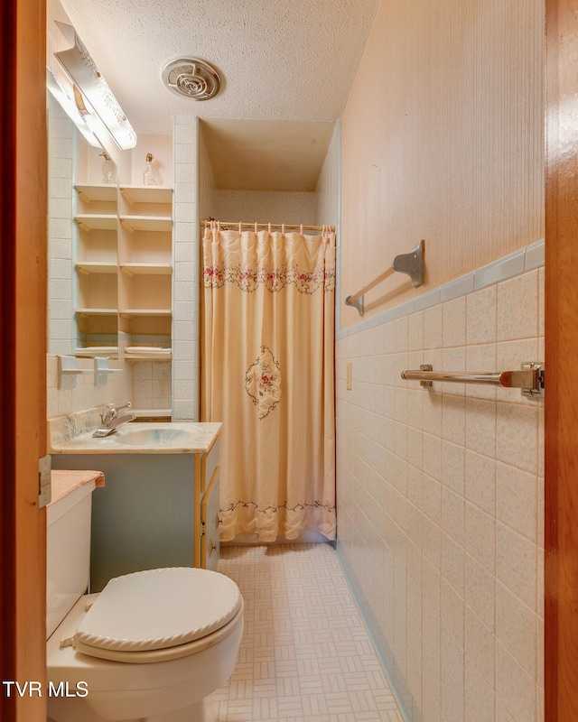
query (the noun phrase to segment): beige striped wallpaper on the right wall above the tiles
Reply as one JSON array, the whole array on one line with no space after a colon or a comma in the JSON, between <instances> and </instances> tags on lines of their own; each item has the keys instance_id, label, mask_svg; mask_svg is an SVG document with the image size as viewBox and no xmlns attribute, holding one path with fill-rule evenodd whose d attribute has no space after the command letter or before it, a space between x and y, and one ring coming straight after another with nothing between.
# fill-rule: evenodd
<instances>
[{"instance_id":1,"label":"beige striped wallpaper on the right wall above the tiles","mask_svg":"<svg viewBox=\"0 0 578 722\"><path fill-rule=\"evenodd\" d=\"M366 318L543 237L541 0L382 2L342 117L341 299ZM343 327L359 321L344 309Z\"/></svg>"}]
</instances>

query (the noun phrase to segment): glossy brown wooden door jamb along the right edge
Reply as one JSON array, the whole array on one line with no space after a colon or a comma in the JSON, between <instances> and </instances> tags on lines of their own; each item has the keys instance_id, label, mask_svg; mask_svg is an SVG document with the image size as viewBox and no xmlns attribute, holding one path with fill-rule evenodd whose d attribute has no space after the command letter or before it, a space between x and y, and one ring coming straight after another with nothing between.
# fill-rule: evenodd
<instances>
[{"instance_id":1,"label":"glossy brown wooden door jamb along the right edge","mask_svg":"<svg viewBox=\"0 0 578 722\"><path fill-rule=\"evenodd\" d=\"M578 719L578 2L546 0L545 721Z\"/></svg>"}]
</instances>

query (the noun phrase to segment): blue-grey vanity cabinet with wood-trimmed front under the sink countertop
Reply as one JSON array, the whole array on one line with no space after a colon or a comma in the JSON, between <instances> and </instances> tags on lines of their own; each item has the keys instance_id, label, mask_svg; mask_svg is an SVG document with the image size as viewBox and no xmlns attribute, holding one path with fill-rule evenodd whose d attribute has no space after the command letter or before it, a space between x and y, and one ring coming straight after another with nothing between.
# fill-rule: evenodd
<instances>
[{"instance_id":1,"label":"blue-grey vanity cabinet with wood-trimmed front under the sink countertop","mask_svg":"<svg viewBox=\"0 0 578 722\"><path fill-rule=\"evenodd\" d=\"M91 592L143 569L216 569L218 439L199 453L62 453L51 463L98 469L105 477L92 495Z\"/></svg>"}]
</instances>

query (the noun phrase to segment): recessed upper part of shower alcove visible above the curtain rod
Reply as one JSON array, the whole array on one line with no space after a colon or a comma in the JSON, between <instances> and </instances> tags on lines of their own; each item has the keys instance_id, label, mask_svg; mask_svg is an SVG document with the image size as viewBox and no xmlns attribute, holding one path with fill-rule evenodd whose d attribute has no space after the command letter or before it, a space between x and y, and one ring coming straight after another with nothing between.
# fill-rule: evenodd
<instances>
[{"instance_id":1,"label":"recessed upper part of shower alcove visible above the curtain rod","mask_svg":"<svg viewBox=\"0 0 578 722\"><path fill-rule=\"evenodd\" d=\"M325 122L201 120L200 221L335 225L337 183L323 182L326 175L336 179L335 128Z\"/></svg>"}]
</instances>

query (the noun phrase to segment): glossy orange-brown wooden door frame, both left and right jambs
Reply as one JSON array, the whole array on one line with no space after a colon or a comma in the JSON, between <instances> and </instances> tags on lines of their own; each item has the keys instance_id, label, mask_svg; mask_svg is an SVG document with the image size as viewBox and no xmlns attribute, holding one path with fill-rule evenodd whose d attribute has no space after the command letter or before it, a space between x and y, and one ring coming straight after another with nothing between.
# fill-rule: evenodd
<instances>
[{"instance_id":1,"label":"glossy orange-brown wooden door frame, both left and right jambs","mask_svg":"<svg viewBox=\"0 0 578 722\"><path fill-rule=\"evenodd\" d=\"M545 722L578 719L578 0L545 0ZM0 665L45 677L45 2L4 0L0 32ZM574 111L573 116L578 114ZM43 722L45 699L1 700Z\"/></svg>"}]
</instances>

